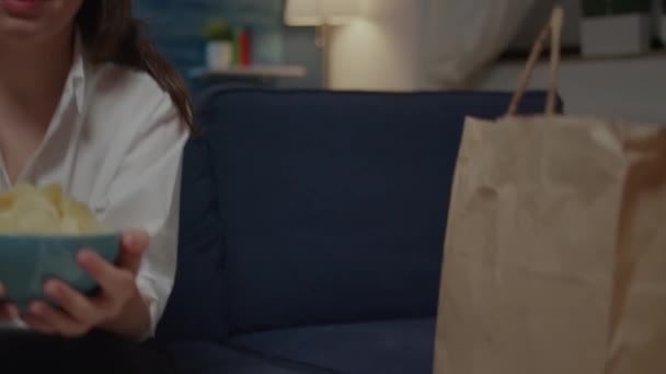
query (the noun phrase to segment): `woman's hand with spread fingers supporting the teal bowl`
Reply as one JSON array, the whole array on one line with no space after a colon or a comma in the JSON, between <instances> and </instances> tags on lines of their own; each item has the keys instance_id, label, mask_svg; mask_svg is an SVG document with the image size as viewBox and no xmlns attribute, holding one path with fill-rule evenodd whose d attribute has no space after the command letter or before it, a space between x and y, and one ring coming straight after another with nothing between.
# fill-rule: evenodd
<instances>
[{"instance_id":1,"label":"woman's hand with spread fingers supporting the teal bowl","mask_svg":"<svg viewBox=\"0 0 666 374\"><path fill-rule=\"evenodd\" d=\"M139 295L135 280L150 239L145 231L134 230L124 233L120 242L116 265L92 250L83 249L77 255L79 265L100 285L100 294L89 297L61 281L48 280L44 291L61 311L36 301L22 319L44 334L79 337L118 318L127 304Z\"/></svg>"}]
</instances>

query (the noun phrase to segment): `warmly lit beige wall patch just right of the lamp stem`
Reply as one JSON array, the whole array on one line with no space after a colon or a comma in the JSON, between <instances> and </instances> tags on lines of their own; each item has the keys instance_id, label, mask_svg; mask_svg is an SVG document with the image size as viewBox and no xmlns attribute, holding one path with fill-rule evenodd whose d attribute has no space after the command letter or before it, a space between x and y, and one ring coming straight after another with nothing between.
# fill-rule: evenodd
<instances>
[{"instance_id":1,"label":"warmly lit beige wall patch just right of the lamp stem","mask_svg":"<svg viewBox=\"0 0 666 374\"><path fill-rule=\"evenodd\" d=\"M367 0L364 16L338 27L331 43L331 86L415 90L421 82L426 0Z\"/></svg>"}]
</instances>

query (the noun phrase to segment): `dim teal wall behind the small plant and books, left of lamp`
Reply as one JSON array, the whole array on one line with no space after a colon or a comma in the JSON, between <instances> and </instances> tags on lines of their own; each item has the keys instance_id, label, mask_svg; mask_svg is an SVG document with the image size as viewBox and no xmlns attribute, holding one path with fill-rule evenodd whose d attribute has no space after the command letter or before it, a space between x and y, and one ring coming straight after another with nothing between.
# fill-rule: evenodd
<instances>
[{"instance_id":1,"label":"dim teal wall behind the small plant and books, left of lamp","mask_svg":"<svg viewBox=\"0 0 666 374\"><path fill-rule=\"evenodd\" d=\"M136 14L148 23L158 49L188 78L188 71L205 65L203 27L211 17L222 17L252 32L253 61L260 65L305 65L309 74L290 80L292 86L317 86L320 51L311 43L310 28L285 27L284 0L135 0ZM190 79L194 91L198 82Z\"/></svg>"}]
</instances>

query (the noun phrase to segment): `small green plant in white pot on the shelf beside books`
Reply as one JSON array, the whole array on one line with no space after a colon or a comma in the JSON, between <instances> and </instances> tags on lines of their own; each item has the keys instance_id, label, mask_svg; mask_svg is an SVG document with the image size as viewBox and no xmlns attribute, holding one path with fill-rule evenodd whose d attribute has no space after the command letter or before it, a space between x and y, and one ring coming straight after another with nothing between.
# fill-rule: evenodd
<instances>
[{"instance_id":1,"label":"small green plant in white pot on the shelf beside books","mask_svg":"<svg viewBox=\"0 0 666 374\"><path fill-rule=\"evenodd\" d=\"M221 20L209 21L205 28L206 63L208 69L229 69L233 61L231 27Z\"/></svg>"}]
</instances>

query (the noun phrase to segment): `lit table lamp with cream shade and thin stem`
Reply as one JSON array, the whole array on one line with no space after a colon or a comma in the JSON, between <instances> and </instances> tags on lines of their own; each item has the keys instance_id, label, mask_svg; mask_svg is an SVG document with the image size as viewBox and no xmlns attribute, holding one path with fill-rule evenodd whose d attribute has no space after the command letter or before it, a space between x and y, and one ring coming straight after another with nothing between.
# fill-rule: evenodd
<instances>
[{"instance_id":1,"label":"lit table lamp with cream shade and thin stem","mask_svg":"<svg viewBox=\"0 0 666 374\"><path fill-rule=\"evenodd\" d=\"M329 87L330 27L346 24L360 14L359 0L286 0L285 23L317 27L322 48L322 85Z\"/></svg>"}]
</instances>

